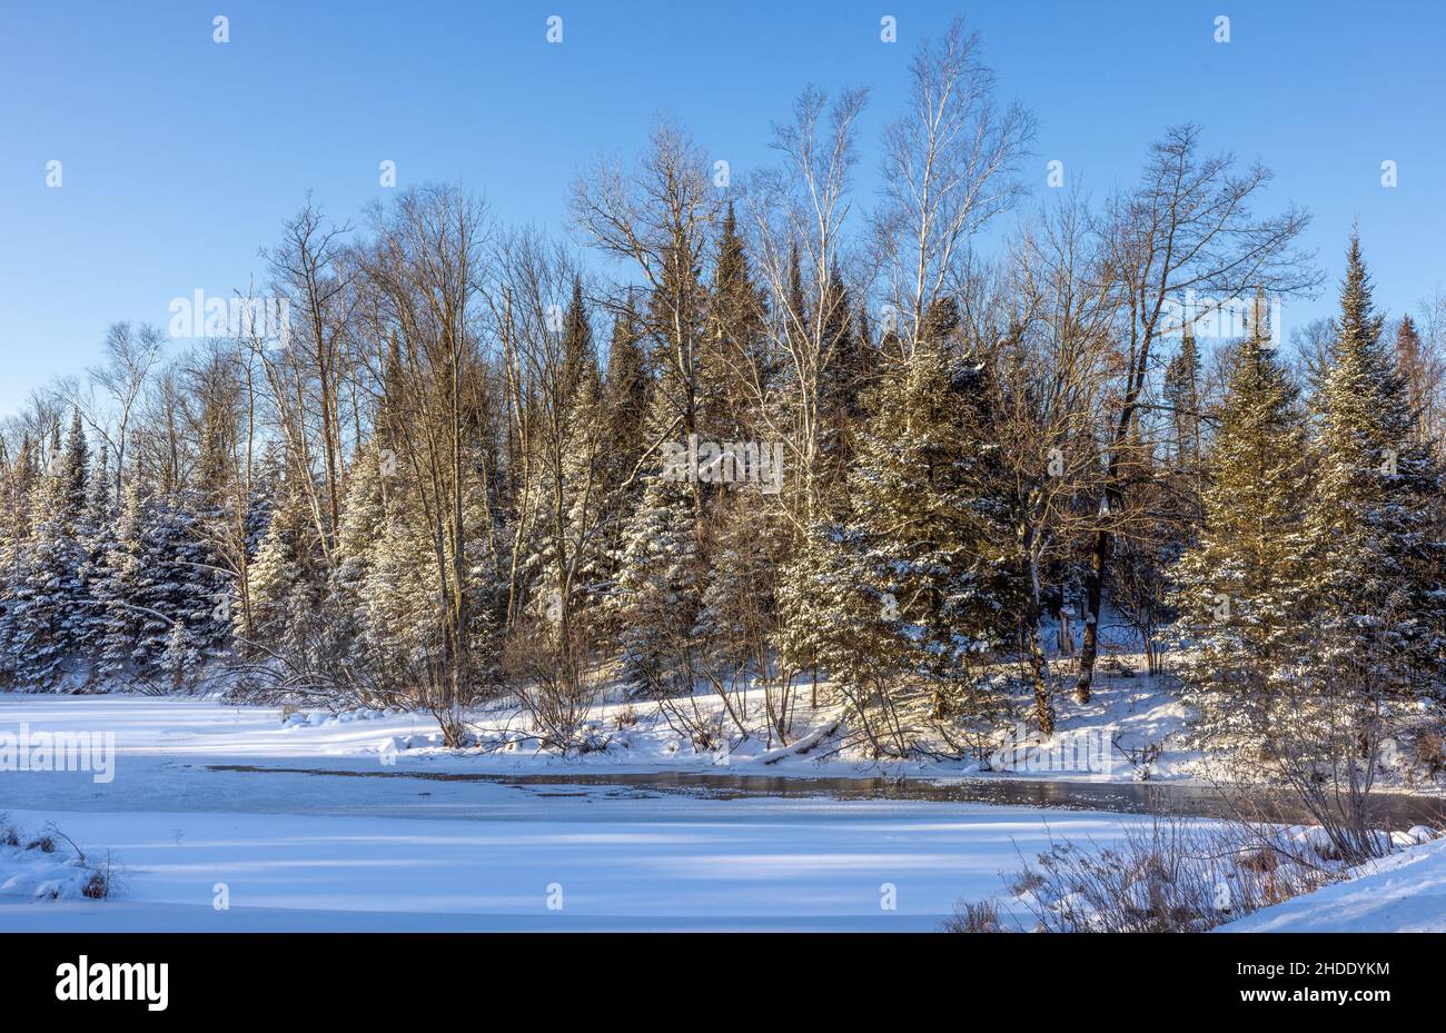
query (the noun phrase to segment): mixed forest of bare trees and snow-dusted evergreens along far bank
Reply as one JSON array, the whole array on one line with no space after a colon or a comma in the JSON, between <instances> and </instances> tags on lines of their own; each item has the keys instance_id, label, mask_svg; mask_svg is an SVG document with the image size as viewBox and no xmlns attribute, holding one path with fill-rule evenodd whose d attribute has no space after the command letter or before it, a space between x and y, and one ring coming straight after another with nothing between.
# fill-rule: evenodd
<instances>
[{"instance_id":1,"label":"mixed forest of bare trees and snow-dusted evergreens along far bank","mask_svg":"<svg viewBox=\"0 0 1446 1033\"><path fill-rule=\"evenodd\" d=\"M808 90L748 178L674 121L597 159L565 238L451 185L308 202L263 253L283 340L114 325L0 438L0 679L224 678L451 744L513 693L557 748L616 679L703 750L748 688L788 743L823 682L875 756L963 754L1021 686L1045 735L1087 704L1121 620L1202 740L1439 751L1446 302L1388 325L1352 234L1338 315L1277 344L1322 276L1268 169L1186 124L1034 207L977 53L920 48L875 196L868 94Z\"/></svg>"}]
</instances>

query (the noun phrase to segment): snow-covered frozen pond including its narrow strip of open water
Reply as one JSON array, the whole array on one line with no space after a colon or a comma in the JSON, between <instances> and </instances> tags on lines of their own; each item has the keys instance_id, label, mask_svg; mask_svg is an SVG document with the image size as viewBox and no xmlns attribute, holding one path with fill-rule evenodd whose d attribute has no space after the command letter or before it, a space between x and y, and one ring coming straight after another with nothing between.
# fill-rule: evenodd
<instances>
[{"instance_id":1,"label":"snow-covered frozen pond including its narrow strip of open water","mask_svg":"<svg viewBox=\"0 0 1446 1033\"><path fill-rule=\"evenodd\" d=\"M0 773L0 811L108 851L123 886L0 893L0 929L928 930L1051 841L1222 813L1180 785L388 766L367 750L389 721L286 731L207 701L0 696L0 731L116 731L114 777ZM1392 824L1439 821L1437 802L1388 805Z\"/></svg>"}]
</instances>

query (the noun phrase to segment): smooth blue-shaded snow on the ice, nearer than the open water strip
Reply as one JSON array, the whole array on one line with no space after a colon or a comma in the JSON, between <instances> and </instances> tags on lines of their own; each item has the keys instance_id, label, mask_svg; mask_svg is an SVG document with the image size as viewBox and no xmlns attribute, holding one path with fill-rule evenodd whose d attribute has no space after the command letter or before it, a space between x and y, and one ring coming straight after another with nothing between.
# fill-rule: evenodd
<instances>
[{"instance_id":1,"label":"smooth blue-shaded snow on the ice, nearer than the open water strip","mask_svg":"<svg viewBox=\"0 0 1446 1033\"><path fill-rule=\"evenodd\" d=\"M123 889L104 903L0 896L0 928L927 930L957 897L996 893L1017 847L1121 829L979 805L473 790L469 819L16 811L108 845Z\"/></svg>"}]
</instances>

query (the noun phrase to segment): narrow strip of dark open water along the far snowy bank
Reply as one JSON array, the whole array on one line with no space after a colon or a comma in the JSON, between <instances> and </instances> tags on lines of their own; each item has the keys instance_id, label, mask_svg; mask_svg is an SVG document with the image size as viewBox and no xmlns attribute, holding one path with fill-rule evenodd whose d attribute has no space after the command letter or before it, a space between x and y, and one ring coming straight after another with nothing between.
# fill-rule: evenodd
<instances>
[{"instance_id":1,"label":"narrow strip of dark open water along the far snowy bank","mask_svg":"<svg viewBox=\"0 0 1446 1033\"><path fill-rule=\"evenodd\" d=\"M733 771L590 771L560 774L479 774L471 771L393 771L320 767L257 767L253 764L211 764L213 771L254 771L317 774L357 779L425 779L435 782L489 782L515 786L538 796L580 796L580 792L548 792L549 786L568 789L626 789L633 793L672 793L706 799L735 800L750 796L824 798L836 800L936 800L940 803L995 803L1021 808L1064 808L1070 811L1112 811L1121 813L1181 815L1189 818L1244 816L1274 822L1309 821L1299 802L1281 793L1252 793L1248 813L1231 805L1213 786L1170 783L1092 783L1031 782L1024 779L960 779L950 782L898 780L884 777L794 777L743 774ZM609 795L609 793L604 793ZM1377 813L1390 828L1426 824L1446 825L1443 800L1406 793L1375 793Z\"/></svg>"}]
</instances>

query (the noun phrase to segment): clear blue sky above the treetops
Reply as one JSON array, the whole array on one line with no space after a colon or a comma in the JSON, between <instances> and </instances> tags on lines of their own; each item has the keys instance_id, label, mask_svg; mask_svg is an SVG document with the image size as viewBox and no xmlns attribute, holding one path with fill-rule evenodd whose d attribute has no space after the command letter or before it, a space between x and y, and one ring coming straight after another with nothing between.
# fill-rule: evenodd
<instances>
[{"instance_id":1,"label":"clear blue sky above the treetops","mask_svg":"<svg viewBox=\"0 0 1446 1033\"><path fill-rule=\"evenodd\" d=\"M735 173L805 84L868 85L860 202L878 130L921 36L964 14L999 94L1040 121L1045 163L1103 195L1168 124L1261 157L1314 214L1332 311L1352 218L1377 299L1446 283L1446 4L1154 0L0 0L0 412L80 373L119 319L260 279L257 248L307 191L337 218L388 191L460 181L502 215L562 230L574 170L632 153L659 111ZM213 17L230 42L213 42ZM562 42L545 39L549 14ZM898 42L879 40L892 14ZM1215 19L1231 42L1215 42ZM46 163L62 162L62 186ZM1381 186L1394 160L1398 186Z\"/></svg>"}]
</instances>

